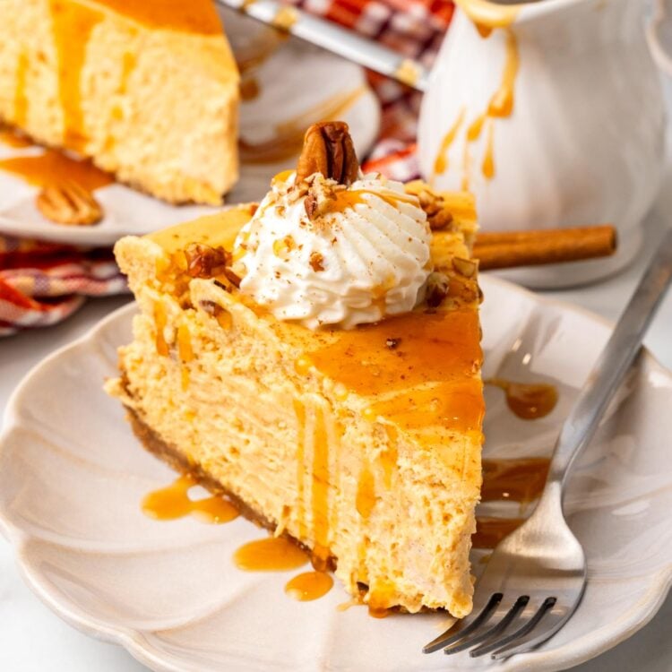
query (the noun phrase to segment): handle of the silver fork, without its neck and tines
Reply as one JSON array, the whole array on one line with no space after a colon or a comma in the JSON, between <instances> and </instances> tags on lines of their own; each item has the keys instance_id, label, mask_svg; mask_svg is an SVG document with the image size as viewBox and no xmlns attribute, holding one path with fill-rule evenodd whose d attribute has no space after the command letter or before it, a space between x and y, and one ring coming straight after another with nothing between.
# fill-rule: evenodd
<instances>
[{"instance_id":1,"label":"handle of the silver fork, without its neck and tines","mask_svg":"<svg viewBox=\"0 0 672 672\"><path fill-rule=\"evenodd\" d=\"M573 461L590 443L609 401L640 351L644 333L672 279L672 229L664 235L628 305L593 366L553 452L547 485L564 487ZM548 488L554 489L554 488Z\"/></svg>"}]
</instances>

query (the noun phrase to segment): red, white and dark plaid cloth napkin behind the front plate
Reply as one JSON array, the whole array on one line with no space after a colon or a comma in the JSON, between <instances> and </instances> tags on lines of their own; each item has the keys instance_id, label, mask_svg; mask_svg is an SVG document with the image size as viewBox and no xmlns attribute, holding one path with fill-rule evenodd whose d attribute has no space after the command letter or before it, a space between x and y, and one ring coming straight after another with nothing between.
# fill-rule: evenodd
<instances>
[{"instance_id":1,"label":"red, white and dark plaid cloth napkin behind the front plate","mask_svg":"<svg viewBox=\"0 0 672 672\"><path fill-rule=\"evenodd\" d=\"M449 0L287 0L432 65L452 17ZM406 181L418 177L415 138L421 94L376 73L381 134L367 171ZM127 291L108 249L85 249L0 234L0 336L65 320L85 297Z\"/></svg>"}]
</instances>

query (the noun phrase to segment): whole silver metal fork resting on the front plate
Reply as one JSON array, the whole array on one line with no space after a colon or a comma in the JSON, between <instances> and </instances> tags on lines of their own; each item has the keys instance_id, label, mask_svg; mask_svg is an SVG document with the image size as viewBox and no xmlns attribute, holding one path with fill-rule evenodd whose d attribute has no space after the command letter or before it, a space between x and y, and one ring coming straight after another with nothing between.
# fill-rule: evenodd
<instances>
[{"instance_id":1,"label":"whole silver metal fork resting on the front plate","mask_svg":"<svg viewBox=\"0 0 672 672\"><path fill-rule=\"evenodd\" d=\"M633 364L671 276L669 230L564 421L534 513L495 548L478 581L471 615L426 644L425 653L470 650L472 657L508 658L546 642L579 606L586 558L564 520L564 483Z\"/></svg>"}]
</instances>

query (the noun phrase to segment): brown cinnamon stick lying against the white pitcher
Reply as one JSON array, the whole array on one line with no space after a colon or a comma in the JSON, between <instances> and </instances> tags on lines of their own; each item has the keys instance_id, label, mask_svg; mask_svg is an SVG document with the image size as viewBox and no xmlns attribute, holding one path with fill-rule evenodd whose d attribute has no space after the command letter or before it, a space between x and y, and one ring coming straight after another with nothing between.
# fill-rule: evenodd
<instances>
[{"instance_id":1,"label":"brown cinnamon stick lying against the white pitcher","mask_svg":"<svg viewBox=\"0 0 672 672\"><path fill-rule=\"evenodd\" d=\"M609 225L480 233L473 256L481 270L576 262L616 252L616 229Z\"/></svg>"}]
</instances>

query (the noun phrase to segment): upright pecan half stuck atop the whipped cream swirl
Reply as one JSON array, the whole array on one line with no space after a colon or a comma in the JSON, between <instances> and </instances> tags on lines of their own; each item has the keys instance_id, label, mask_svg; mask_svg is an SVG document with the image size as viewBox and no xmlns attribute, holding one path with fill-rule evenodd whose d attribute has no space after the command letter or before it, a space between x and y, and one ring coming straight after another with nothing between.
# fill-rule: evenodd
<instances>
[{"instance_id":1,"label":"upright pecan half stuck atop the whipped cream swirl","mask_svg":"<svg viewBox=\"0 0 672 672\"><path fill-rule=\"evenodd\" d=\"M321 173L341 185L351 185L358 172L355 146L345 122L325 121L308 128L298 159L297 184L314 173Z\"/></svg>"}]
</instances>

